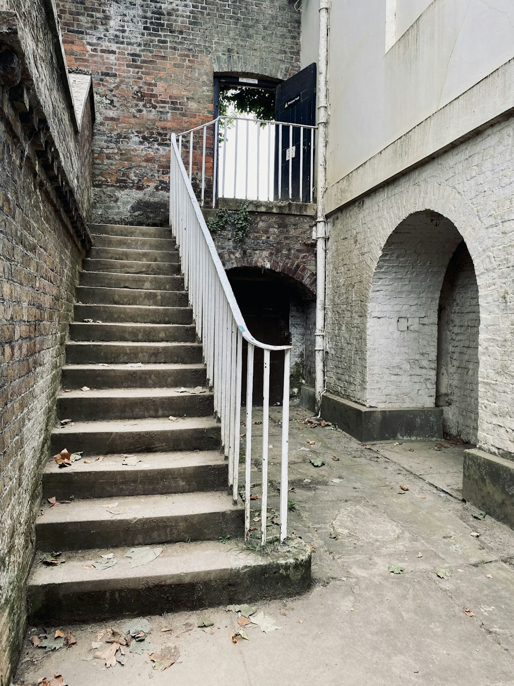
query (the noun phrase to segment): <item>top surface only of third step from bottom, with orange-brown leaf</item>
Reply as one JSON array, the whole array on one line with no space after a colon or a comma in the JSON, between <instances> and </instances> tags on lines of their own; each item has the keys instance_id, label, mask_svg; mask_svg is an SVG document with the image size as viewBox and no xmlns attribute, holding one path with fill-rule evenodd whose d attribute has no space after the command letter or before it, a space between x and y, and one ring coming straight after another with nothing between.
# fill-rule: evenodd
<instances>
[{"instance_id":1,"label":"top surface only of third step from bottom, with orange-brown leaf","mask_svg":"<svg viewBox=\"0 0 514 686\"><path fill-rule=\"evenodd\" d=\"M95 458L102 457L102 460ZM127 466L122 464L125 457L136 457L140 462ZM106 456L88 455L89 464L81 460L72 462L71 466L61 469L55 460L48 460L43 469L45 474L108 473L112 471L130 471L140 473L149 470L175 469L177 467L227 464L219 451L195 450L164 453L117 453Z\"/></svg>"}]
</instances>

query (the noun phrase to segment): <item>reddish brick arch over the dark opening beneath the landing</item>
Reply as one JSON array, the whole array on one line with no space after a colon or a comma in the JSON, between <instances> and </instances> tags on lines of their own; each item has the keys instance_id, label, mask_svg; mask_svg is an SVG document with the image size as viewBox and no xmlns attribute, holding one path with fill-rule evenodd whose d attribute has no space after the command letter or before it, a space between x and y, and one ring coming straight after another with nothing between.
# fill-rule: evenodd
<instances>
[{"instance_id":1,"label":"reddish brick arch over the dark opening beneath the landing","mask_svg":"<svg viewBox=\"0 0 514 686\"><path fill-rule=\"evenodd\" d=\"M226 271L251 267L277 272L297 282L306 300L316 296L316 274L300 261L282 255L263 255L258 250L219 250L218 254Z\"/></svg>"}]
</instances>

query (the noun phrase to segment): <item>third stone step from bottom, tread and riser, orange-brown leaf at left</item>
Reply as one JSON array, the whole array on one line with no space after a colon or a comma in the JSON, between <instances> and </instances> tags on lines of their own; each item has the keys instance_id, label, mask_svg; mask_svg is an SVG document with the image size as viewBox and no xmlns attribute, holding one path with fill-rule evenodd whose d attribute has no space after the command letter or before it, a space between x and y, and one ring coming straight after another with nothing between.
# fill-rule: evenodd
<instances>
[{"instance_id":1,"label":"third stone step from bottom, tread and riser, orange-brown leaf at left","mask_svg":"<svg viewBox=\"0 0 514 686\"><path fill-rule=\"evenodd\" d=\"M96 456L60 469L49 460L43 471L43 499L114 498L160 493L193 493L223 490L228 482L228 462L219 451L138 453L133 466L123 464L123 455L103 460Z\"/></svg>"}]
</instances>

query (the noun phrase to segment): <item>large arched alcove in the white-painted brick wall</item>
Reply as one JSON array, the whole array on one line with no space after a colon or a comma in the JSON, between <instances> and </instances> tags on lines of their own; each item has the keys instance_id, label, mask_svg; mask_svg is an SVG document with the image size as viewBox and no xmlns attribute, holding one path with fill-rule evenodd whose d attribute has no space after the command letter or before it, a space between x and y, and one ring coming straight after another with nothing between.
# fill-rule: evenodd
<instances>
[{"instance_id":1,"label":"large arched alcove in the white-painted brick wall","mask_svg":"<svg viewBox=\"0 0 514 686\"><path fill-rule=\"evenodd\" d=\"M384 245L367 322L367 405L443 407L448 434L476 441L478 287L463 237L414 213Z\"/></svg>"}]
</instances>

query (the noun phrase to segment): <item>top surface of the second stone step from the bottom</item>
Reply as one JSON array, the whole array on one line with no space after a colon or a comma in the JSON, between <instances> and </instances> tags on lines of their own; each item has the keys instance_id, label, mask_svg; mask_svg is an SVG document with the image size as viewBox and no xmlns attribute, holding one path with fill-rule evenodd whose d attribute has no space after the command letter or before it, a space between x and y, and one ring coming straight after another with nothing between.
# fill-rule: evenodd
<instances>
[{"instance_id":1,"label":"top surface of the second stone step from the bottom","mask_svg":"<svg viewBox=\"0 0 514 686\"><path fill-rule=\"evenodd\" d=\"M114 506L117 503L117 506ZM119 514L108 512L119 510ZM169 493L165 495L125 495L121 497L88 498L70 504L48 506L42 510L36 526L66 524L71 522L151 521L160 517L186 517L190 514L241 510L232 504L226 493L195 491L194 493Z\"/></svg>"}]
</instances>

